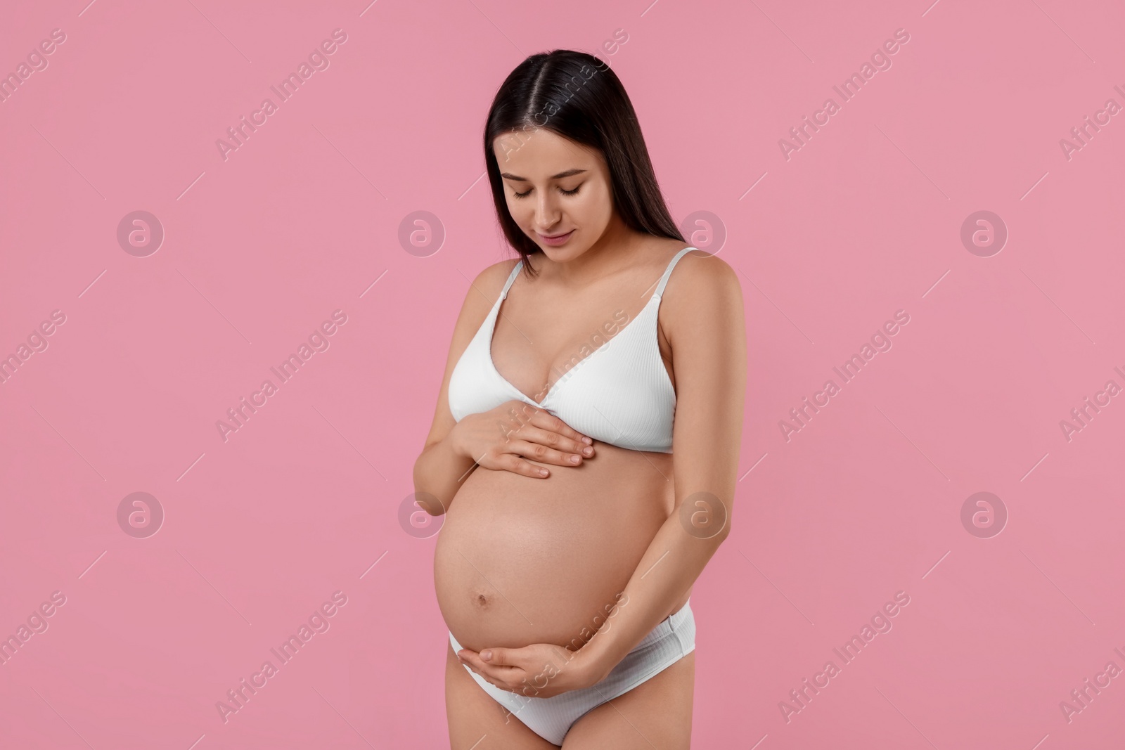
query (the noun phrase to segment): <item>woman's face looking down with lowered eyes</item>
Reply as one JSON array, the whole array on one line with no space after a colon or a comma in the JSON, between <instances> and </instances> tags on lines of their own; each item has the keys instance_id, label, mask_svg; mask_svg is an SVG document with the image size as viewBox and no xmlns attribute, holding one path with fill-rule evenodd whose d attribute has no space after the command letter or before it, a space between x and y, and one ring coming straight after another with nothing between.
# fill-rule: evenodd
<instances>
[{"instance_id":1,"label":"woman's face looking down with lowered eyes","mask_svg":"<svg viewBox=\"0 0 1125 750\"><path fill-rule=\"evenodd\" d=\"M609 168L597 150L533 128L497 136L493 153L507 210L547 257L573 260L605 232L613 218L613 195Z\"/></svg>"}]
</instances>

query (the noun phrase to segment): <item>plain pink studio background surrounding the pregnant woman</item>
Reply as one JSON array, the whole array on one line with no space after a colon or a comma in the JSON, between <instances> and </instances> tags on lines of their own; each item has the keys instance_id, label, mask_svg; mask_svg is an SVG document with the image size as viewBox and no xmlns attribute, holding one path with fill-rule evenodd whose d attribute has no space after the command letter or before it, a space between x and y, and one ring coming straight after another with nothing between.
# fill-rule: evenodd
<instances>
[{"instance_id":1,"label":"plain pink studio background surrounding the pregnant woman","mask_svg":"<svg viewBox=\"0 0 1125 750\"><path fill-rule=\"evenodd\" d=\"M1119 3L20 6L0 72L66 40L0 102L0 355L65 323L0 383L0 635L66 602L0 667L0 744L448 746L435 537L398 509L467 279L512 256L478 179L488 103L569 47L616 71L675 219L709 211L690 240L744 281L742 479L692 597L694 747L1118 747L1125 677L1070 722L1060 702L1125 669L1125 397L1070 441L1060 421L1125 387L1125 114L1069 160L1060 139L1125 105ZM330 67L224 161L216 139L336 28ZM116 236L135 210L165 233L145 257ZM417 210L446 233L428 256L398 238ZM960 238L978 210L1009 232L988 257ZM330 349L224 442L336 309ZM893 347L786 442L900 309ZM165 514L145 539L117 521L136 491ZM978 491L999 535L962 525ZM786 722L900 590L893 629ZM333 591L330 630L224 723L216 702Z\"/></svg>"}]
</instances>

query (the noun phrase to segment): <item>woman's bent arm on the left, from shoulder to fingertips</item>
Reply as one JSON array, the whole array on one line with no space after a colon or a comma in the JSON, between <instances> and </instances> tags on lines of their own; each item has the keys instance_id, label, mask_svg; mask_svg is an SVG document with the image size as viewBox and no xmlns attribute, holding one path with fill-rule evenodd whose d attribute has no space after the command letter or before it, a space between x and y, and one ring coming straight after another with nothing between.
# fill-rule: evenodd
<instances>
[{"instance_id":1,"label":"woman's bent arm on the left, from shoulder to fingertips","mask_svg":"<svg viewBox=\"0 0 1125 750\"><path fill-rule=\"evenodd\" d=\"M457 490L477 466L546 479L549 471L523 457L565 467L580 466L584 459L593 457L590 439L523 401L507 401L489 412L466 415L460 422L449 409L453 368L492 310L513 266L513 261L502 261L482 271L469 286L453 326L433 423L414 462L415 500L430 515L449 509ZM516 418L510 415L513 406L518 408ZM578 461L573 461L573 457Z\"/></svg>"}]
</instances>

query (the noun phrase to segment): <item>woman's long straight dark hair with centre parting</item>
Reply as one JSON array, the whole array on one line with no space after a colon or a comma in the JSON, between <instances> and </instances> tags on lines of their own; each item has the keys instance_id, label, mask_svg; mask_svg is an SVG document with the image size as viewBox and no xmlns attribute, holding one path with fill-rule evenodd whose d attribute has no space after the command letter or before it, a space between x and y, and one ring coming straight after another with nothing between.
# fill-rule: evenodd
<instances>
[{"instance_id":1,"label":"woman's long straight dark hair with centre parting","mask_svg":"<svg viewBox=\"0 0 1125 750\"><path fill-rule=\"evenodd\" d=\"M574 49L531 55L501 84L485 125L485 165L496 217L504 236L536 272L528 256L542 252L512 219L493 152L496 136L543 128L597 148L609 165L613 204L626 225L638 232L685 242L672 220L629 94L616 74L597 57Z\"/></svg>"}]
</instances>

